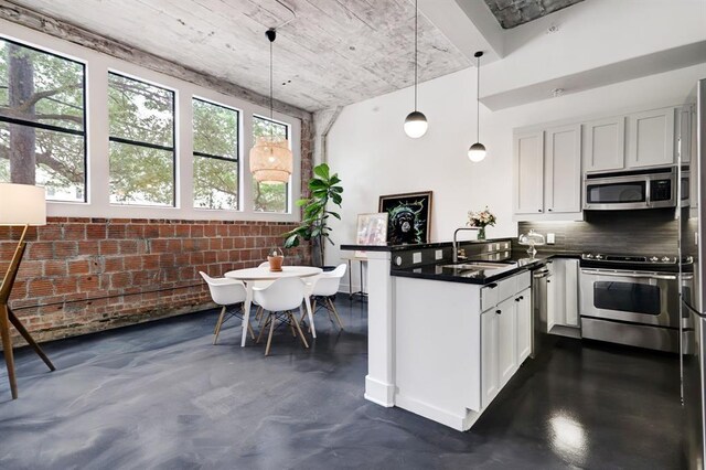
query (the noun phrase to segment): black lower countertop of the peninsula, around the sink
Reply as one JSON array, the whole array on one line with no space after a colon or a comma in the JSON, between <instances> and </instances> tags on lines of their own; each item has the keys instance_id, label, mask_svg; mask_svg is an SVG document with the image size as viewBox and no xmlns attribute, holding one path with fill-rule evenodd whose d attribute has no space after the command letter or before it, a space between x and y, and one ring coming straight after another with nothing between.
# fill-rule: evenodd
<instances>
[{"instance_id":1,"label":"black lower countertop of the peninsula, around the sink","mask_svg":"<svg viewBox=\"0 0 706 470\"><path fill-rule=\"evenodd\" d=\"M499 266L494 269L475 270L452 268L448 267L449 265L451 265L451 263L442 261L436 265L425 265L405 269L395 269L395 267L393 266L393 268L391 269L391 275L397 277L442 280L450 282L486 285L504 279L522 270L536 269L542 265L545 265L547 261L556 258L577 259L580 258L580 255L573 253L538 253L534 258L531 258L525 252L512 252L511 256L502 261L488 261L484 260L482 256L480 256L458 263L459 265L473 261L492 263Z\"/></svg>"}]
</instances>

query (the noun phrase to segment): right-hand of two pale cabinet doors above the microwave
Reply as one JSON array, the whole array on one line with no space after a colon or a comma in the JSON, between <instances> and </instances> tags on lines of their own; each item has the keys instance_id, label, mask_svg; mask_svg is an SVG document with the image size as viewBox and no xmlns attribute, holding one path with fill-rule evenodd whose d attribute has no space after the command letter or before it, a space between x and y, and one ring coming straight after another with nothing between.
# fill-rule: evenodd
<instances>
[{"instance_id":1,"label":"right-hand of two pale cabinet doors above the microwave","mask_svg":"<svg viewBox=\"0 0 706 470\"><path fill-rule=\"evenodd\" d=\"M628 116L628 167L675 163L675 108L661 108Z\"/></svg>"}]
</instances>

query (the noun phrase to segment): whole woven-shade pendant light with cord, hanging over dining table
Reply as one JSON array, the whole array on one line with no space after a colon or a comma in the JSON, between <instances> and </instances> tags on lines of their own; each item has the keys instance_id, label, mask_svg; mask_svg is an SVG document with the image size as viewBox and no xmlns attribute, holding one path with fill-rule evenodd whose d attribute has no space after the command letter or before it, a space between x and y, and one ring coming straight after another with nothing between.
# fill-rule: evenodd
<instances>
[{"instance_id":1,"label":"whole woven-shade pendant light with cord, hanging over dining table","mask_svg":"<svg viewBox=\"0 0 706 470\"><path fill-rule=\"evenodd\" d=\"M269 40L269 136L258 137L250 149L250 173L258 182L289 182L292 171L292 153L287 139L275 137L272 128L272 43L277 31L272 28L265 32Z\"/></svg>"}]
</instances>

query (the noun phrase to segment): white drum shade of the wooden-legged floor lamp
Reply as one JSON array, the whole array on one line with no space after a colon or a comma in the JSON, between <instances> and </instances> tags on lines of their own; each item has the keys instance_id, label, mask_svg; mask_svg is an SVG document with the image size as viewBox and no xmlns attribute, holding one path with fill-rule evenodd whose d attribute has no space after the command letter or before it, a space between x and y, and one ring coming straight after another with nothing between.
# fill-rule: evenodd
<instances>
[{"instance_id":1,"label":"white drum shade of the wooden-legged floor lamp","mask_svg":"<svg viewBox=\"0 0 706 470\"><path fill-rule=\"evenodd\" d=\"M46 225L44 188L0 183L0 225Z\"/></svg>"}]
</instances>

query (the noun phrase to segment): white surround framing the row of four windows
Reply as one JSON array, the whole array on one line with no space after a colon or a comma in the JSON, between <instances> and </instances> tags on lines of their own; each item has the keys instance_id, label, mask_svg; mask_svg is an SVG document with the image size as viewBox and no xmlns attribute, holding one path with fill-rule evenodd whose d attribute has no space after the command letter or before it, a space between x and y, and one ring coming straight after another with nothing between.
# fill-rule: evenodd
<instances>
[{"instance_id":1,"label":"white surround framing the row of four windows","mask_svg":"<svg viewBox=\"0 0 706 470\"><path fill-rule=\"evenodd\" d=\"M47 201L46 214L50 217L96 217L174 220L174 221L237 221L295 224L301 221L301 211L290 207L289 213L255 212L250 207L253 199L249 171L249 149L253 147L252 118L269 116L265 102L248 98L247 95L229 93L228 86L212 87L205 81L190 81L186 76L174 76L168 72L158 72L149 65L129 62L84 45L62 40L0 19L0 38L53 53L84 64L85 71L85 200ZM109 125L107 110L108 73L146 82L175 93L175 206L111 204L109 201ZM236 88L237 89L237 88ZM240 210L202 210L193 207L193 136L191 129L191 99L203 98L240 111L239 139L240 152ZM286 114L275 110L274 119L289 126L290 148L295 158L289 189L290 206L297 201L306 182L302 182L302 162L307 156L302 149L302 130L307 114Z\"/></svg>"}]
</instances>

